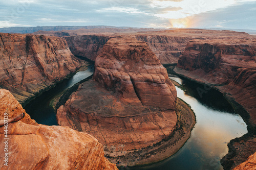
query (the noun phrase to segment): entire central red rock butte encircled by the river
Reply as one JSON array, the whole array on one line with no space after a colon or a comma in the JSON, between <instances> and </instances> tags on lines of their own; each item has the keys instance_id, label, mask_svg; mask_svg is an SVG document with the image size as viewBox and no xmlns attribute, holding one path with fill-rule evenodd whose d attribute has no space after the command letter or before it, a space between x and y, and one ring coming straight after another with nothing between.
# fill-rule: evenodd
<instances>
[{"instance_id":1,"label":"entire central red rock butte encircled by the river","mask_svg":"<svg viewBox=\"0 0 256 170\"><path fill-rule=\"evenodd\" d=\"M83 83L57 110L58 124L87 132L109 150L141 149L172 134L177 93L147 44L111 38Z\"/></svg>"}]
</instances>

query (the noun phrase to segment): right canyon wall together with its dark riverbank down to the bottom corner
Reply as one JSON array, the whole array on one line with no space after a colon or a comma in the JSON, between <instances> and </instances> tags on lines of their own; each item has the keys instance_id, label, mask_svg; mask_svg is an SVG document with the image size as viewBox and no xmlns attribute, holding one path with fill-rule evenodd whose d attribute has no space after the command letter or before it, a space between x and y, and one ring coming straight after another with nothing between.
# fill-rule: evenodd
<instances>
[{"instance_id":1,"label":"right canyon wall together with its dark riverbank down to the bottom corner","mask_svg":"<svg viewBox=\"0 0 256 170\"><path fill-rule=\"evenodd\" d=\"M207 93L209 86L221 91L248 125L248 134L228 144L229 154L221 160L224 169L252 154L255 147L250 143L256 135L256 38L231 40L190 41L174 69L179 75L207 84L198 90L200 95Z\"/></svg>"}]
</instances>

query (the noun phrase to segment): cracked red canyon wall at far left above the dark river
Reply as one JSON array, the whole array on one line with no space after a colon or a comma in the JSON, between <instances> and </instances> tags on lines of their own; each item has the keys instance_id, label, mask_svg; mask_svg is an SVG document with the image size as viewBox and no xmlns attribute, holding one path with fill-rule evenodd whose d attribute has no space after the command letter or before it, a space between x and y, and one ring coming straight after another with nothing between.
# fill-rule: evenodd
<instances>
[{"instance_id":1,"label":"cracked red canyon wall at far left above the dark river","mask_svg":"<svg viewBox=\"0 0 256 170\"><path fill-rule=\"evenodd\" d=\"M19 102L62 80L81 66L65 39L0 34L0 86Z\"/></svg>"}]
</instances>

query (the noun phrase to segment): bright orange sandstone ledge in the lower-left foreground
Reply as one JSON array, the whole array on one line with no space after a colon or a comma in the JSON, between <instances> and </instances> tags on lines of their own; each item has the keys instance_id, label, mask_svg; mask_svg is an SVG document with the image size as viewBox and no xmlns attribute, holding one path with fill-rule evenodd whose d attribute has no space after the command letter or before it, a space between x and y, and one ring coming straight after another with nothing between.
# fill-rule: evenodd
<instances>
[{"instance_id":1,"label":"bright orange sandstone ledge in the lower-left foreground","mask_svg":"<svg viewBox=\"0 0 256 170\"><path fill-rule=\"evenodd\" d=\"M13 117L24 112L14 96L0 89L1 112ZM93 136L61 126L35 126L29 115L16 123L8 124L8 166L1 169L117 169L104 157L103 146ZM0 139L4 141L4 127ZM0 143L4 153L5 143Z\"/></svg>"}]
</instances>

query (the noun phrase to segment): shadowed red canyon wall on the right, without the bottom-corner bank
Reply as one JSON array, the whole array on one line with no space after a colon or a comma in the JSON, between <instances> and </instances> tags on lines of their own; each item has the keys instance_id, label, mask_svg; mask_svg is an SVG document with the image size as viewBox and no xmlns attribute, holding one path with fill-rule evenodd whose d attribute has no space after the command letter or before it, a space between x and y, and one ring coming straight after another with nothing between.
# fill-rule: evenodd
<instances>
[{"instance_id":1,"label":"shadowed red canyon wall on the right, without the bottom-corner bank","mask_svg":"<svg viewBox=\"0 0 256 170\"><path fill-rule=\"evenodd\" d=\"M178 61L175 71L216 86L241 104L256 125L256 38L232 43L193 40ZM185 71L186 70L186 71Z\"/></svg>"}]
</instances>

